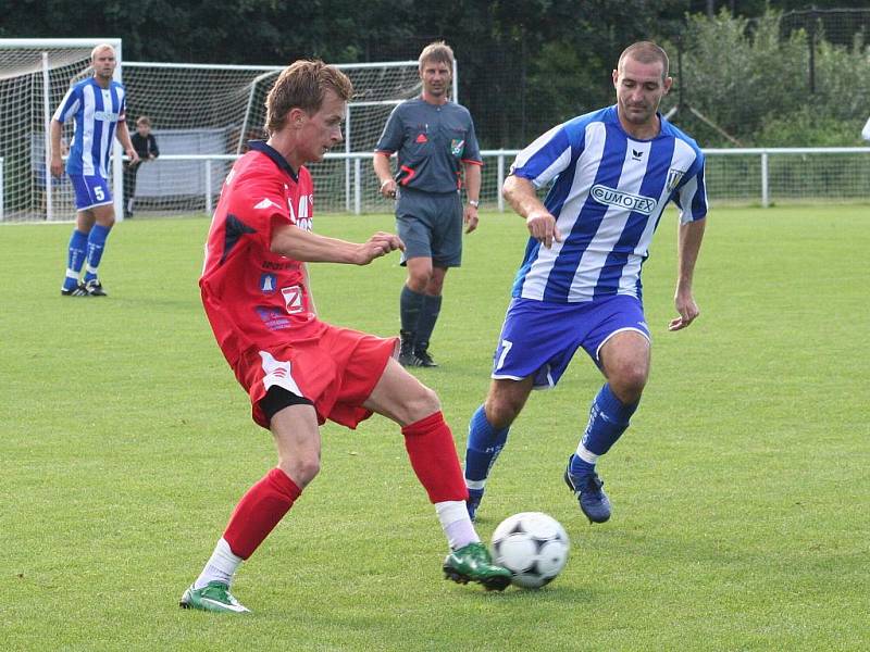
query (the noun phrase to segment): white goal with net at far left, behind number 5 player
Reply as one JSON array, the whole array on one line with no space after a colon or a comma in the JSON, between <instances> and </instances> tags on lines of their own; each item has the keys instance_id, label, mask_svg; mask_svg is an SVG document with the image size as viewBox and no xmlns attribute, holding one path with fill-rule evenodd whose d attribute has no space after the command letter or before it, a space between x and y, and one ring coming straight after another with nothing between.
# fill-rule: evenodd
<instances>
[{"instance_id":1,"label":"white goal with net at far left, behind number 5 player","mask_svg":"<svg viewBox=\"0 0 870 652\"><path fill-rule=\"evenodd\" d=\"M115 49L114 77L122 80L119 38L0 39L0 221L65 220L75 215L69 178L50 172L51 116L70 86L90 74L90 52ZM70 142L72 124L63 128ZM111 172L115 213L123 217L123 149L113 147Z\"/></svg>"}]
</instances>

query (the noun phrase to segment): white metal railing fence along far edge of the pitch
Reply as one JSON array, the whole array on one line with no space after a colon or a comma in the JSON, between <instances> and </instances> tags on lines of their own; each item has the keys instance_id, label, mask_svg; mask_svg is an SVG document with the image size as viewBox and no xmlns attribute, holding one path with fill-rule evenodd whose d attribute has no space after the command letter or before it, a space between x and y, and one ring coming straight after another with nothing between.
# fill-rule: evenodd
<instances>
[{"instance_id":1,"label":"white metal railing fence along far edge of the pitch","mask_svg":"<svg viewBox=\"0 0 870 652\"><path fill-rule=\"evenodd\" d=\"M505 211L501 185L519 150L482 151L481 203ZM870 204L870 147L707 149L706 180L710 205L759 205L818 202ZM378 192L372 153L330 153L310 167L318 212L384 213L391 202ZM236 154L166 154L142 165L159 195L136 197L137 215L211 213ZM3 221L0 159L0 221ZM171 174L169 174L171 173ZM172 184L165 181L169 174ZM115 191L115 190L113 190ZM72 217L72 213L69 217Z\"/></svg>"}]
</instances>

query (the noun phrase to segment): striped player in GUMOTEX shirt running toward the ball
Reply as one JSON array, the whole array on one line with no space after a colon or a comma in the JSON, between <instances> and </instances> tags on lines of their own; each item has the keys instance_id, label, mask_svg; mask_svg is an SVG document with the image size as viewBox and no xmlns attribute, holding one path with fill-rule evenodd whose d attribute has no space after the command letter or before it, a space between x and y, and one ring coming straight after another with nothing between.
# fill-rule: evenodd
<instances>
[{"instance_id":1,"label":"striped player in GUMOTEX shirt running toward the ball","mask_svg":"<svg viewBox=\"0 0 870 652\"><path fill-rule=\"evenodd\" d=\"M465 484L472 518L508 429L532 389L556 386L583 347L605 376L564 480L594 523L610 518L595 466L625 431L649 375L650 335L641 267L668 202L680 209L679 263L669 330L698 316L692 292L704 236L704 156L658 113L672 84L668 55L649 41L613 71L617 103L559 125L517 156L504 196L531 235L494 356L486 402L471 418ZM536 190L552 181L542 203Z\"/></svg>"}]
</instances>

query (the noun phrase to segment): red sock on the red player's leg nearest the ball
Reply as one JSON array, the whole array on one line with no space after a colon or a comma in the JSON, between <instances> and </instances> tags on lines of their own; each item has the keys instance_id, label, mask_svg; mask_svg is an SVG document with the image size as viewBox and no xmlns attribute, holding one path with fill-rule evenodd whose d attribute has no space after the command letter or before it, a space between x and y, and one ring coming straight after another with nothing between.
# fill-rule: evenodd
<instances>
[{"instance_id":1,"label":"red sock on the red player's leg nearest the ball","mask_svg":"<svg viewBox=\"0 0 870 652\"><path fill-rule=\"evenodd\" d=\"M401 434L411 466L433 503L468 499L453 435L440 411L405 426Z\"/></svg>"}]
</instances>

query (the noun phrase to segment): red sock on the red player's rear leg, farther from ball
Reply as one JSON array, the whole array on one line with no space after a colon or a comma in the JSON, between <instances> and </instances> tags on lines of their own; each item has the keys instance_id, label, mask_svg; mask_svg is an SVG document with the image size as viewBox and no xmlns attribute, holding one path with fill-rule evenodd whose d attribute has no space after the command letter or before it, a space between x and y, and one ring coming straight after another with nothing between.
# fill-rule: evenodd
<instances>
[{"instance_id":1,"label":"red sock on the red player's rear leg, farther from ball","mask_svg":"<svg viewBox=\"0 0 870 652\"><path fill-rule=\"evenodd\" d=\"M286 473L273 468L238 501L224 539L233 554L247 560L302 492Z\"/></svg>"}]
</instances>

